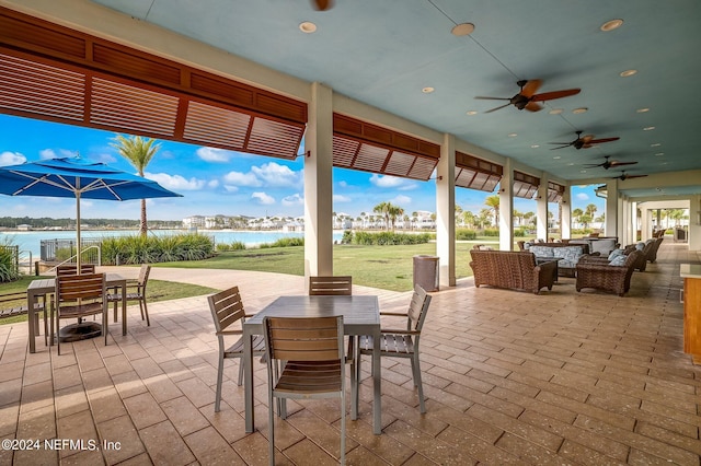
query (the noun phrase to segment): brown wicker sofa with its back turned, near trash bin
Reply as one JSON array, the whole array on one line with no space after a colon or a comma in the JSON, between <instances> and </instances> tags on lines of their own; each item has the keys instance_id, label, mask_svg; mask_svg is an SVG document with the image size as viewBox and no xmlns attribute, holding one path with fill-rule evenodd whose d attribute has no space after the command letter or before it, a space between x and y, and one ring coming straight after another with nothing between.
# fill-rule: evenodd
<instances>
[{"instance_id":1,"label":"brown wicker sofa with its back turned, near trash bin","mask_svg":"<svg viewBox=\"0 0 701 466\"><path fill-rule=\"evenodd\" d=\"M556 263L536 265L536 256L528 252L471 249L470 267L474 273L474 286L489 284L497 288L531 291L541 288L552 290Z\"/></svg>"}]
</instances>

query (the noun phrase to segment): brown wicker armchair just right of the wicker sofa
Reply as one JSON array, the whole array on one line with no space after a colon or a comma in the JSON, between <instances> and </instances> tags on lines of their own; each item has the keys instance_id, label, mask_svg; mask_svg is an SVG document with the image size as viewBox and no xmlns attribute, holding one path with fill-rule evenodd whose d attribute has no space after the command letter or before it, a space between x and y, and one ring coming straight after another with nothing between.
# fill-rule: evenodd
<instances>
[{"instance_id":1,"label":"brown wicker armchair just right of the wicker sofa","mask_svg":"<svg viewBox=\"0 0 701 466\"><path fill-rule=\"evenodd\" d=\"M598 260L579 261L577 264L577 291L582 291L584 288L594 288L623 296L631 288L631 277L641 256L640 251L632 251L628 254L623 266L611 266Z\"/></svg>"}]
</instances>

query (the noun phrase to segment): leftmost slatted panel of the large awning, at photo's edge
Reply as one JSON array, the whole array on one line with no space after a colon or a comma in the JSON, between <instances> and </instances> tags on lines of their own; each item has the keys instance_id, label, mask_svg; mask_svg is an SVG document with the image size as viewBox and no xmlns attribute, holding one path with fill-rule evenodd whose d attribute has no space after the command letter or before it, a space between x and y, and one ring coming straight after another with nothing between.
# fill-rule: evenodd
<instances>
[{"instance_id":1,"label":"leftmost slatted panel of the large awning, at photo's edge","mask_svg":"<svg viewBox=\"0 0 701 466\"><path fill-rule=\"evenodd\" d=\"M84 95L80 73L0 54L0 107L82 121Z\"/></svg>"}]
</instances>

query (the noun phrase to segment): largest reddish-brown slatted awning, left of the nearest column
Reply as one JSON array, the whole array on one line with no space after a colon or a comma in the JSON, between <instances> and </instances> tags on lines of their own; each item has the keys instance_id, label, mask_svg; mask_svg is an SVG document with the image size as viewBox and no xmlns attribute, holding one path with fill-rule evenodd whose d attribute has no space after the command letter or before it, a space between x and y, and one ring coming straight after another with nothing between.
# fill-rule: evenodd
<instances>
[{"instance_id":1,"label":"largest reddish-brown slatted awning, left of the nearest column","mask_svg":"<svg viewBox=\"0 0 701 466\"><path fill-rule=\"evenodd\" d=\"M307 104L0 7L0 113L295 159Z\"/></svg>"}]
</instances>

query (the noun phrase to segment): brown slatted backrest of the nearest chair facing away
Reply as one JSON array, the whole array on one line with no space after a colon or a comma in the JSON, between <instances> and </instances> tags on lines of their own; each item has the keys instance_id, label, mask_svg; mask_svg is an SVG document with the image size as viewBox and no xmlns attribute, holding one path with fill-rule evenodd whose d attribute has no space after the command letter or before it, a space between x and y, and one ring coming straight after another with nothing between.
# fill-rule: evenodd
<instances>
[{"instance_id":1,"label":"brown slatted backrest of the nearest chair facing away","mask_svg":"<svg viewBox=\"0 0 701 466\"><path fill-rule=\"evenodd\" d=\"M343 316L264 317L265 347L284 361L344 360Z\"/></svg>"}]
</instances>

